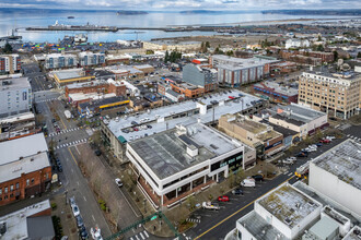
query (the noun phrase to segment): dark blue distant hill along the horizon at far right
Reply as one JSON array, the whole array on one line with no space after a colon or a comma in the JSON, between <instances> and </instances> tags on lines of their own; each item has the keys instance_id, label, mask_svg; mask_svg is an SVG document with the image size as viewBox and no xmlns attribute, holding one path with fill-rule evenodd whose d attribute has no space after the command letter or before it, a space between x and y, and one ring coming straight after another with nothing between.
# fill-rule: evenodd
<instances>
[{"instance_id":1,"label":"dark blue distant hill along the horizon at far right","mask_svg":"<svg viewBox=\"0 0 361 240\"><path fill-rule=\"evenodd\" d=\"M289 14L289 15L360 15L361 9L325 9L325 10L265 10L263 14Z\"/></svg>"}]
</instances>

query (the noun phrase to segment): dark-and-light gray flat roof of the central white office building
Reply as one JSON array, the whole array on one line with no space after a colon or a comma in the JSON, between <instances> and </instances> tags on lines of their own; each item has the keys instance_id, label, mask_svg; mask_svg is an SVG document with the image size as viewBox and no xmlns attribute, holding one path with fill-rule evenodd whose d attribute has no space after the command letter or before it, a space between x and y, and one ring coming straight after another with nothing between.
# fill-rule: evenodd
<instances>
[{"instance_id":1,"label":"dark-and-light gray flat roof of the central white office building","mask_svg":"<svg viewBox=\"0 0 361 240\"><path fill-rule=\"evenodd\" d=\"M160 179L241 147L205 124L193 123L183 128L185 131L178 128L167 130L129 145ZM190 145L198 148L195 157L187 154Z\"/></svg>"}]
</instances>

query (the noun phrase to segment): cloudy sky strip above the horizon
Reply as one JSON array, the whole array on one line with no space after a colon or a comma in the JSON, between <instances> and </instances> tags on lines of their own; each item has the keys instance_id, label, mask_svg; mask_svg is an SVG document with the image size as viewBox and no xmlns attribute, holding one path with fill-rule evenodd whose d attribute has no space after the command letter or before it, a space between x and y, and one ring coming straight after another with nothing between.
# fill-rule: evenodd
<instances>
[{"instance_id":1,"label":"cloudy sky strip above the horizon","mask_svg":"<svg viewBox=\"0 0 361 240\"><path fill-rule=\"evenodd\" d=\"M0 8L109 10L361 9L360 0L0 0Z\"/></svg>"}]
</instances>

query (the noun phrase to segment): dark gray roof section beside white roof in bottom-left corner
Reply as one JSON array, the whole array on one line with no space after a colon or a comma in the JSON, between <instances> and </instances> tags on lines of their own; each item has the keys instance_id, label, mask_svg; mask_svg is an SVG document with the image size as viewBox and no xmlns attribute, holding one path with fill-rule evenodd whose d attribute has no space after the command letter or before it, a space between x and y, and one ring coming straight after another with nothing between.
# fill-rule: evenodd
<instances>
[{"instance_id":1,"label":"dark gray roof section beside white roof in bottom-left corner","mask_svg":"<svg viewBox=\"0 0 361 240\"><path fill-rule=\"evenodd\" d=\"M30 239L53 240L55 231L51 216L28 217L27 235Z\"/></svg>"}]
</instances>

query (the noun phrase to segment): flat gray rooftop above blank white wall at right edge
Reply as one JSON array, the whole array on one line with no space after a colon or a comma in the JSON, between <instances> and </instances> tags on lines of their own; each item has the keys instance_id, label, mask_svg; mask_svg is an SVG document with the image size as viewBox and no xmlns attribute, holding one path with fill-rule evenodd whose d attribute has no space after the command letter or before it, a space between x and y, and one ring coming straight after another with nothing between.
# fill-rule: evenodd
<instances>
[{"instance_id":1,"label":"flat gray rooftop above blank white wall at right edge","mask_svg":"<svg viewBox=\"0 0 361 240\"><path fill-rule=\"evenodd\" d=\"M361 144L346 140L312 161L315 166L337 176L361 190Z\"/></svg>"}]
</instances>

